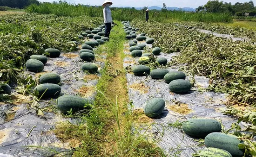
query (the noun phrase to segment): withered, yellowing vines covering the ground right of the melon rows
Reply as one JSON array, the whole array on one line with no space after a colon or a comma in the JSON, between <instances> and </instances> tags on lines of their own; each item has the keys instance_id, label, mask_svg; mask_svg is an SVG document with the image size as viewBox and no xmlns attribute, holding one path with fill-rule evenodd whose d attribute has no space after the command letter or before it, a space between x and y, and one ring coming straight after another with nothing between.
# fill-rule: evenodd
<instances>
[{"instance_id":1,"label":"withered, yellowing vines covering the ground right of the melon rows","mask_svg":"<svg viewBox=\"0 0 256 157\"><path fill-rule=\"evenodd\" d=\"M132 24L155 38L155 46L164 52L181 52L172 63L187 64L184 70L209 77L209 90L228 93L229 104L256 105L255 45L217 38L184 25L139 20Z\"/></svg>"}]
</instances>

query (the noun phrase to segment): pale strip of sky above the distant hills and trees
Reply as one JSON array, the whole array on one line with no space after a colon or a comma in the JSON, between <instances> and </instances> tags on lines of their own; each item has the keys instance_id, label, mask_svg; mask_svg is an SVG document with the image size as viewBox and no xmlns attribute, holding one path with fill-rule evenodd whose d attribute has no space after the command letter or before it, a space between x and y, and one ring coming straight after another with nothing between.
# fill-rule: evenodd
<instances>
[{"instance_id":1,"label":"pale strip of sky above the distant hills and trees","mask_svg":"<svg viewBox=\"0 0 256 157\"><path fill-rule=\"evenodd\" d=\"M40 2L53 2L59 0L39 0ZM84 4L91 6L100 6L105 0L66 0L68 3ZM142 7L142 6L160 6L165 3L166 6L176 7L192 7L197 8L198 6L205 5L208 0L111 0L113 6L130 6L130 7ZM223 0L224 2L249 2L249 0ZM252 0L256 5L256 0Z\"/></svg>"}]
</instances>

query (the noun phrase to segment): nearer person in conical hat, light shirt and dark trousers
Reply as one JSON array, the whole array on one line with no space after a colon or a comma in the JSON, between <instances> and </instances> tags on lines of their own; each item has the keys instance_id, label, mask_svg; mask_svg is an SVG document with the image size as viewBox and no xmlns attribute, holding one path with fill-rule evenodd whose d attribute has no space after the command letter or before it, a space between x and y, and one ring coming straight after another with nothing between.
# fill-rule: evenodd
<instances>
[{"instance_id":1,"label":"nearer person in conical hat, light shirt and dark trousers","mask_svg":"<svg viewBox=\"0 0 256 157\"><path fill-rule=\"evenodd\" d=\"M111 24L113 23L111 10L109 6L111 6L113 3L110 0L105 0L103 3L103 17L104 17L104 23L105 23L105 35L104 37L108 37L110 35L111 31Z\"/></svg>"}]
</instances>

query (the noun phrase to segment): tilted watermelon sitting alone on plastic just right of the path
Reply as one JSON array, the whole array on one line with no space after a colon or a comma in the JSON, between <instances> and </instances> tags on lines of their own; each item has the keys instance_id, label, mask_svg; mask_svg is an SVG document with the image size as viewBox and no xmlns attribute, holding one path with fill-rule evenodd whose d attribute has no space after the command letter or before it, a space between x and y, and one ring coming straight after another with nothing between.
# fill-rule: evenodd
<instances>
[{"instance_id":1,"label":"tilted watermelon sitting alone on plastic just right of the path","mask_svg":"<svg viewBox=\"0 0 256 157\"><path fill-rule=\"evenodd\" d=\"M153 98L148 100L144 107L144 113L150 118L159 117L165 107L165 101L162 98Z\"/></svg>"}]
</instances>

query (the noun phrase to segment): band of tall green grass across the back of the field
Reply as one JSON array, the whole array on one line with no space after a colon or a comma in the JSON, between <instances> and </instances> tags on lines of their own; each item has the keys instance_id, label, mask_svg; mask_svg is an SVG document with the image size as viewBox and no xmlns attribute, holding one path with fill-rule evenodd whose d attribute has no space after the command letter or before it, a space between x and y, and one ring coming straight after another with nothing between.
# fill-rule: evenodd
<instances>
[{"instance_id":1,"label":"band of tall green grass across the back of the field","mask_svg":"<svg viewBox=\"0 0 256 157\"><path fill-rule=\"evenodd\" d=\"M131 21L135 18L145 19L143 10L133 8L112 7L112 18L120 21ZM57 16L81 16L103 17L101 6L71 5L67 2L60 3L41 3L40 5L31 5L27 7L28 13L55 14ZM232 22L233 18L226 13L186 13L182 11L158 11L152 10L149 13L149 19L158 22L173 21L194 21L194 22Z\"/></svg>"}]
</instances>

